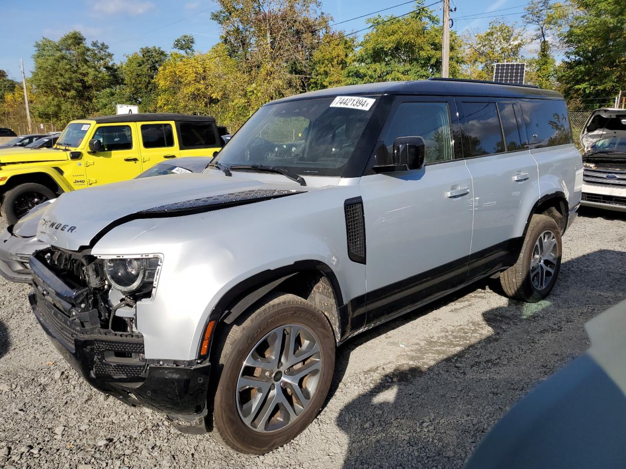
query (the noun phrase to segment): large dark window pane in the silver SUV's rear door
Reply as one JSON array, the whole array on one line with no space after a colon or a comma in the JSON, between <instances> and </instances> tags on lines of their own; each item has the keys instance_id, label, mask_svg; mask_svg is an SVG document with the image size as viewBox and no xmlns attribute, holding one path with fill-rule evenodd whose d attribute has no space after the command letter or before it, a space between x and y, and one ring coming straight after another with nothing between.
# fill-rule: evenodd
<instances>
[{"instance_id":1,"label":"large dark window pane in the silver SUV's rear door","mask_svg":"<svg viewBox=\"0 0 626 469\"><path fill-rule=\"evenodd\" d=\"M463 102L463 154L466 158L505 151L496 103Z\"/></svg>"}]
</instances>

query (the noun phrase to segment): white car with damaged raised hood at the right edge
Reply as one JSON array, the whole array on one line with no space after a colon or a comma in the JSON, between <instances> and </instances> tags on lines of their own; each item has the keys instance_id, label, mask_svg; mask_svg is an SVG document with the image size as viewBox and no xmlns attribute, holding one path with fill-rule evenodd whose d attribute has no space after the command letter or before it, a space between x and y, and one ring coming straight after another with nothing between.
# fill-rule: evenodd
<instances>
[{"instance_id":1,"label":"white car with damaged raised hood at the right edge","mask_svg":"<svg viewBox=\"0 0 626 469\"><path fill-rule=\"evenodd\" d=\"M582 133L581 205L626 212L626 109L596 109Z\"/></svg>"}]
</instances>

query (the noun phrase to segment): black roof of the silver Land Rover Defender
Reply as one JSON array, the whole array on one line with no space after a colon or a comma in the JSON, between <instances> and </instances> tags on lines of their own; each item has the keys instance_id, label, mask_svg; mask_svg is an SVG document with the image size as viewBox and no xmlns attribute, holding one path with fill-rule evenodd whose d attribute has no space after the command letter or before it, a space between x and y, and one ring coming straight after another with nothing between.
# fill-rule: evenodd
<instances>
[{"instance_id":1,"label":"black roof of the silver Land Rover Defender","mask_svg":"<svg viewBox=\"0 0 626 469\"><path fill-rule=\"evenodd\" d=\"M493 81L465 80L454 78L429 78L418 81L387 81L384 83L355 84L338 88L322 89L310 93L296 94L274 103L297 99L323 98L337 95L359 96L366 94L422 94L432 96L493 96L495 98L543 98L563 99L557 91L536 88L530 85L503 84Z\"/></svg>"}]
</instances>

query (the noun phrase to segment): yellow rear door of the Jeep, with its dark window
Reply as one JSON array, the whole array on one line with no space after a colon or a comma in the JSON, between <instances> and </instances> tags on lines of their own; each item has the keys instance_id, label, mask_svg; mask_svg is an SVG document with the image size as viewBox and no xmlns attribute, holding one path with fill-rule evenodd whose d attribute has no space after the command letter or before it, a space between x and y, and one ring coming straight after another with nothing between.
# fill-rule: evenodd
<instances>
[{"instance_id":1,"label":"yellow rear door of the Jeep, with its dark window","mask_svg":"<svg viewBox=\"0 0 626 469\"><path fill-rule=\"evenodd\" d=\"M166 159L180 156L173 121L140 122L137 126L140 135L141 163L144 170Z\"/></svg>"}]
</instances>

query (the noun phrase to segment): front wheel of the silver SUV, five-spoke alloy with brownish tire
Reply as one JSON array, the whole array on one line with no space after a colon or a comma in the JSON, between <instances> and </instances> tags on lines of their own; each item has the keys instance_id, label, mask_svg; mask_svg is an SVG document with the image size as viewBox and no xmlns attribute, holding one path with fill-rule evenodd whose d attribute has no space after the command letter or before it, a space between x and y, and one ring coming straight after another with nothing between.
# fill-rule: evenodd
<instances>
[{"instance_id":1,"label":"front wheel of the silver SUV, five-spoke alloy with brownish tire","mask_svg":"<svg viewBox=\"0 0 626 469\"><path fill-rule=\"evenodd\" d=\"M324 313L299 296L257 306L220 337L212 435L237 451L263 454L295 438L319 413L335 341Z\"/></svg>"}]
</instances>

